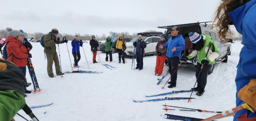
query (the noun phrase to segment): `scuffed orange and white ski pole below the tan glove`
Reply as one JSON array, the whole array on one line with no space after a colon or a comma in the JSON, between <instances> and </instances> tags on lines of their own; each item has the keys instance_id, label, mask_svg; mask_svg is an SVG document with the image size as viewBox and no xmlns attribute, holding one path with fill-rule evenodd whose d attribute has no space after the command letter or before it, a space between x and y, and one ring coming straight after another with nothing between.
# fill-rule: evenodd
<instances>
[{"instance_id":1,"label":"scuffed orange and white ski pole below the tan glove","mask_svg":"<svg viewBox=\"0 0 256 121\"><path fill-rule=\"evenodd\" d=\"M241 111L241 110L244 110L244 109L247 109L247 110L250 110L252 111L253 113L255 113L256 111L251 107L249 106L247 103L243 103L241 106L237 106L235 108L232 108L230 110L227 110L227 111L224 111L222 113L219 113L217 115L214 115L214 116L211 116L209 118L206 118L202 121L212 121L212 120L216 120L216 119L220 119L220 118L224 118L224 117L229 117L229 116L233 116L235 115L236 112L238 111Z\"/></svg>"}]
</instances>

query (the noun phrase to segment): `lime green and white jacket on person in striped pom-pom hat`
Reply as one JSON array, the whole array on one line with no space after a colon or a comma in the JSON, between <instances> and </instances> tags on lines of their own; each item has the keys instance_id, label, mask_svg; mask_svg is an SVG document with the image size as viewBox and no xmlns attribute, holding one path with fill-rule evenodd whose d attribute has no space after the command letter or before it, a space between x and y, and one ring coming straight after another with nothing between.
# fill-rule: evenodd
<instances>
[{"instance_id":1,"label":"lime green and white jacket on person in striped pom-pom hat","mask_svg":"<svg viewBox=\"0 0 256 121\"><path fill-rule=\"evenodd\" d=\"M193 50L193 52L190 55L188 55L187 58L191 59L192 57L197 56L197 62L202 64L201 61L205 59L205 56L206 56L206 53L208 51L209 45L210 45L210 43L212 43L211 49L208 52L206 60L209 61L209 65L214 64L215 59L220 54L220 52L218 50L218 47L215 45L214 41L211 40L211 36L208 36L206 34L201 34L201 35L204 37L204 43L205 43L204 47L200 51Z\"/></svg>"}]
</instances>

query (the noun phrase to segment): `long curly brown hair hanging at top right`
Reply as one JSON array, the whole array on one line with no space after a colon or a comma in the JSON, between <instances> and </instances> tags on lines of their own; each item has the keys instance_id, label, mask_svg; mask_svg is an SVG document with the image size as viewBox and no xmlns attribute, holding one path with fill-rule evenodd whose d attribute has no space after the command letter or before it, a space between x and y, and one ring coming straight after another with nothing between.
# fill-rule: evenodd
<instances>
[{"instance_id":1,"label":"long curly brown hair hanging at top right","mask_svg":"<svg viewBox=\"0 0 256 121\"><path fill-rule=\"evenodd\" d=\"M228 13L234 11L235 9L243 6L248 1L251 0L222 0L218 9L215 11L215 17L213 23L216 23L215 26L211 26L212 28L217 29L218 37L222 42L227 42L229 39L227 35L230 34L229 24L232 23L229 18Z\"/></svg>"}]
</instances>

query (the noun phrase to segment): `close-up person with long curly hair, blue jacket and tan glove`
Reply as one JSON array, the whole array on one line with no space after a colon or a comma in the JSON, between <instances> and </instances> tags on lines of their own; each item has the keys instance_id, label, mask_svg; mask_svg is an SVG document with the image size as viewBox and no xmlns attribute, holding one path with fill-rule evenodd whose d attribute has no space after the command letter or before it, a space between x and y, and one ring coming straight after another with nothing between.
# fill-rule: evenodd
<instances>
[{"instance_id":1,"label":"close-up person with long curly hair, blue jacket and tan glove","mask_svg":"<svg viewBox=\"0 0 256 121\"><path fill-rule=\"evenodd\" d=\"M256 109L256 0L222 0L215 13L214 23L218 36L227 42L229 25L243 35L243 48L237 65L236 105L247 103ZM249 110L236 112L233 121L256 121L256 113Z\"/></svg>"}]
</instances>

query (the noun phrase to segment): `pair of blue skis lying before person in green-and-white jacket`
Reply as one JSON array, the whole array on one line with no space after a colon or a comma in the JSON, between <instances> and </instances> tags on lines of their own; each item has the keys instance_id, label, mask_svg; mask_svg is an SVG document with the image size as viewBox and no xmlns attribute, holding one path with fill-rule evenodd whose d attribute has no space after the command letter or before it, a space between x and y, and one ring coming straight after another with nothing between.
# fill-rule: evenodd
<instances>
[{"instance_id":1,"label":"pair of blue skis lying before person in green-and-white jacket","mask_svg":"<svg viewBox=\"0 0 256 121\"><path fill-rule=\"evenodd\" d=\"M162 93L162 94L155 94L151 96L146 96L146 97L156 97L156 96L163 96L167 94L175 94L175 93L183 93L183 92L191 92L192 90L180 90L180 91L172 91L168 93ZM196 99L196 98L188 98L188 97L165 97L165 98L158 98L158 99L148 99L148 100L143 100L143 101L134 101L134 102L150 102L150 101L164 101L164 100L180 100L180 99Z\"/></svg>"}]
</instances>

